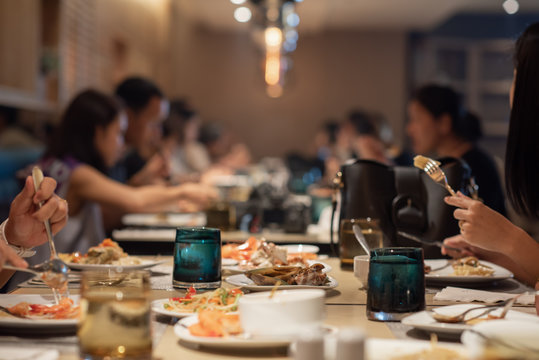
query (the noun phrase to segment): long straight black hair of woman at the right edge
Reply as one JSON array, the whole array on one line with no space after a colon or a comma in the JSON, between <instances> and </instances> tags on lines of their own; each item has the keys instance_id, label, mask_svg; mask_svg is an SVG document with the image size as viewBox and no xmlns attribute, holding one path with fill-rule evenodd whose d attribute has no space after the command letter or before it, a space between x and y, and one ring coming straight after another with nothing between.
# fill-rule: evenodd
<instances>
[{"instance_id":1,"label":"long straight black hair of woman at the right edge","mask_svg":"<svg viewBox=\"0 0 539 360\"><path fill-rule=\"evenodd\" d=\"M516 78L505 155L509 200L519 213L539 217L539 23L518 38Z\"/></svg>"}]
</instances>

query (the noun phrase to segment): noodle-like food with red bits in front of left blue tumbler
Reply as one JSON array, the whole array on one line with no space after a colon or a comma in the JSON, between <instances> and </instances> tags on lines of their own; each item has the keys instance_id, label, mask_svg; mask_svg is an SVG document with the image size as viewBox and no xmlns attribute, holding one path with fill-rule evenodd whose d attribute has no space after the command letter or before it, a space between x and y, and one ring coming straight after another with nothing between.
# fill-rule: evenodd
<instances>
[{"instance_id":1,"label":"noodle-like food with red bits in front of left blue tumbler","mask_svg":"<svg viewBox=\"0 0 539 360\"><path fill-rule=\"evenodd\" d=\"M202 310L232 312L238 310L238 300L242 295L243 292L238 288L219 288L197 294L195 288L190 287L184 297L168 299L163 308L177 313L196 313Z\"/></svg>"}]
</instances>

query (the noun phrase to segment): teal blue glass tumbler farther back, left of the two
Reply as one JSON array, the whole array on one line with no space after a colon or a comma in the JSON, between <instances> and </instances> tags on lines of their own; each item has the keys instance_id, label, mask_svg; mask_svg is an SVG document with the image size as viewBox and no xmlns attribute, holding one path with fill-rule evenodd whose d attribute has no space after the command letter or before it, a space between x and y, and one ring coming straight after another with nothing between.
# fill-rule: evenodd
<instances>
[{"instance_id":1,"label":"teal blue glass tumbler farther back, left of the two","mask_svg":"<svg viewBox=\"0 0 539 360\"><path fill-rule=\"evenodd\" d=\"M221 232L207 227L176 229L175 288L217 289L221 286Z\"/></svg>"}]
</instances>

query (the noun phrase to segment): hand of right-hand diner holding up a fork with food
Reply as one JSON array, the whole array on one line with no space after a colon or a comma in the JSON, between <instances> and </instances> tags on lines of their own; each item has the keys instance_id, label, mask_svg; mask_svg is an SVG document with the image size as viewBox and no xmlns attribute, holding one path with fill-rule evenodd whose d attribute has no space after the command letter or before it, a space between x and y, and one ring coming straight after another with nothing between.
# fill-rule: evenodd
<instances>
[{"instance_id":1,"label":"hand of right-hand diner holding up a fork with food","mask_svg":"<svg viewBox=\"0 0 539 360\"><path fill-rule=\"evenodd\" d=\"M459 220L463 238L471 246L503 252L507 240L518 238L520 229L482 202L472 200L461 192L454 196L446 196L444 201L458 207L453 215Z\"/></svg>"}]
</instances>

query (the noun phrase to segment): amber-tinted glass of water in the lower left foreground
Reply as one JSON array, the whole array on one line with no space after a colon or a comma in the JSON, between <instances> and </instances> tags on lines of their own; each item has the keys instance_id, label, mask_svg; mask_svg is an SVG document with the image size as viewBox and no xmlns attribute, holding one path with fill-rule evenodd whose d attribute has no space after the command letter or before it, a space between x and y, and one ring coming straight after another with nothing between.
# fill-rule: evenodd
<instances>
[{"instance_id":1,"label":"amber-tinted glass of water in the lower left foreground","mask_svg":"<svg viewBox=\"0 0 539 360\"><path fill-rule=\"evenodd\" d=\"M77 337L84 360L150 360L150 273L84 271Z\"/></svg>"}]
</instances>

